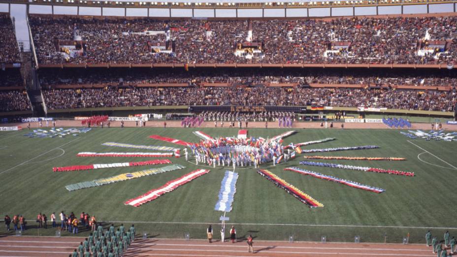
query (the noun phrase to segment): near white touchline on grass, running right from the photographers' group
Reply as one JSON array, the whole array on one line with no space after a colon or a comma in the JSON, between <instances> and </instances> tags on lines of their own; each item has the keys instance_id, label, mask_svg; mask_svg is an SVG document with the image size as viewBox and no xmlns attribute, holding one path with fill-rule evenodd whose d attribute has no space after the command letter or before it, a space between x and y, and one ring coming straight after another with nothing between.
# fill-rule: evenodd
<instances>
[{"instance_id":1,"label":"near white touchline on grass, running right from the photographers' group","mask_svg":"<svg viewBox=\"0 0 457 257\"><path fill-rule=\"evenodd\" d=\"M1 221L0 221L1 222ZM181 224L181 225L208 225L214 222L141 222L141 221L101 221L107 223L133 223L133 224ZM457 229L457 227L435 226L393 226L393 225L331 225L331 224L274 224L274 223L226 223L227 225L266 225L266 226L328 226L328 227L381 227L381 228L431 228L431 229Z\"/></svg>"}]
</instances>

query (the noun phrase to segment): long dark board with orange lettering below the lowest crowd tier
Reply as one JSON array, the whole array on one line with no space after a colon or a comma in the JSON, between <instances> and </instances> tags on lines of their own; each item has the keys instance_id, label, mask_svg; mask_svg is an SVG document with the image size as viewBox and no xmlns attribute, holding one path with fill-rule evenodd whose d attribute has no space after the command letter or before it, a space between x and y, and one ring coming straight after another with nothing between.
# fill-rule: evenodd
<instances>
[{"instance_id":1,"label":"long dark board with orange lettering below the lowest crowd tier","mask_svg":"<svg viewBox=\"0 0 457 257\"><path fill-rule=\"evenodd\" d=\"M301 112L306 106L191 106L194 112Z\"/></svg>"}]
</instances>

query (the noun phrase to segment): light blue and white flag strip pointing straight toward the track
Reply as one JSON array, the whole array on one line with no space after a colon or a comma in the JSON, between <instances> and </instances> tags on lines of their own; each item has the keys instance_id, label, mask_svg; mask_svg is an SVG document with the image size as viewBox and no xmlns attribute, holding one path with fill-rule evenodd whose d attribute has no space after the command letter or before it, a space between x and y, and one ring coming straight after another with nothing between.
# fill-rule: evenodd
<instances>
[{"instance_id":1,"label":"light blue and white flag strip pointing straight toward the track","mask_svg":"<svg viewBox=\"0 0 457 257\"><path fill-rule=\"evenodd\" d=\"M236 193L236 180L238 173L226 170L224 179L221 182L221 190L219 191L219 200L214 209L216 211L229 212L233 203L233 197Z\"/></svg>"}]
</instances>

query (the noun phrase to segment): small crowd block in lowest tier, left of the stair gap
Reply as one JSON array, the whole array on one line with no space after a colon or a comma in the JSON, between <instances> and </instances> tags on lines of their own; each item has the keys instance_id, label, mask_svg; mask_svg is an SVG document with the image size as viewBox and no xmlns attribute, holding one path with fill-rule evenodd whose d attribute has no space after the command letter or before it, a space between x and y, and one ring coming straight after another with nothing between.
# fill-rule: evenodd
<instances>
[{"instance_id":1,"label":"small crowd block in lowest tier, left of the stair gap","mask_svg":"<svg viewBox=\"0 0 457 257\"><path fill-rule=\"evenodd\" d=\"M30 100L25 90L0 91L0 112L28 111L31 109Z\"/></svg>"}]
</instances>

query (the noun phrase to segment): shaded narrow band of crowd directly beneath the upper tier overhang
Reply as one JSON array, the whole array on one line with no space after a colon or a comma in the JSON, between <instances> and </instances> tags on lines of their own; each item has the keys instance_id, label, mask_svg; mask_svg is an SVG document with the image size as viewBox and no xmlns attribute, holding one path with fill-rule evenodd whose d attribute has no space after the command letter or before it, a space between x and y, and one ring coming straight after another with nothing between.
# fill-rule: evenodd
<instances>
[{"instance_id":1,"label":"shaded narrow band of crowd directly beneath the upper tier overhang","mask_svg":"<svg viewBox=\"0 0 457 257\"><path fill-rule=\"evenodd\" d=\"M0 72L1 74L1 72ZM370 86L455 86L457 70L427 69L303 69L303 68L91 68L46 69L39 73L43 88L55 85L141 85L155 83L229 84L365 84ZM122 81L122 82L120 82ZM1 83L1 82L0 82Z\"/></svg>"}]
</instances>

